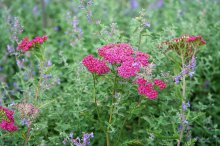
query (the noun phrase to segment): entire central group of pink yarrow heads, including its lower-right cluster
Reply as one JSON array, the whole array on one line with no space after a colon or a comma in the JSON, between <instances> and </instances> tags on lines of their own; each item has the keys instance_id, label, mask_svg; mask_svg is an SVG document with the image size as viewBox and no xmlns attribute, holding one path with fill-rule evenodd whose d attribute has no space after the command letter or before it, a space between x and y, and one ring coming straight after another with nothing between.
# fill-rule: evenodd
<instances>
[{"instance_id":1,"label":"entire central group of pink yarrow heads, including its lower-right cluster","mask_svg":"<svg viewBox=\"0 0 220 146\"><path fill-rule=\"evenodd\" d=\"M135 77L141 71L142 67L149 66L149 55L141 51L134 51L133 48L126 43L107 44L98 48L98 54L103 60L98 60L92 55L86 56L82 63L91 73L98 75L108 73L110 71L106 62L116 67L118 75L122 78ZM141 95L146 95L150 99L155 99L158 92L154 89L153 84L160 87L161 90L166 88L166 84L159 79L155 79L153 83L147 82L144 79L138 79L141 82L138 87L138 92Z\"/></svg>"}]
</instances>

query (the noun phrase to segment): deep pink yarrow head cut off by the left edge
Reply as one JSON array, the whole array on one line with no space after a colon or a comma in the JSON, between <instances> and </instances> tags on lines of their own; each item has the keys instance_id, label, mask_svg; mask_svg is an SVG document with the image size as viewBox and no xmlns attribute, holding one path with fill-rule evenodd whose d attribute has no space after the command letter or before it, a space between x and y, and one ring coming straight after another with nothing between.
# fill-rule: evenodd
<instances>
[{"instance_id":1,"label":"deep pink yarrow head cut off by the left edge","mask_svg":"<svg viewBox=\"0 0 220 146\"><path fill-rule=\"evenodd\" d=\"M0 106L0 128L13 132L18 130L18 127L14 124L14 111L9 110L3 106Z\"/></svg>"}]
</instances>

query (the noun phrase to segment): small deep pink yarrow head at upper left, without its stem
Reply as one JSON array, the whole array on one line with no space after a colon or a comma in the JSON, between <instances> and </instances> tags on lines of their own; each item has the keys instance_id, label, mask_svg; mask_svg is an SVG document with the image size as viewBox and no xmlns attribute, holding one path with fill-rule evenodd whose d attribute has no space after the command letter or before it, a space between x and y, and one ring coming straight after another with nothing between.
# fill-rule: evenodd
<instances>
[{"instance_id":1,"label":"small deep pink yarrow head at upper left, without its stem","mask_svg":"<svg viewBox=\"0 0 220 146\"><path fill-rule=\"evenodd\" d=\"M22 50L24 52L29 51L31 48L36 47L39 44L43 44L47 40L47 38L47 36L37 36L30 41L27 37L23 38L22 41L18 44L17 49Z\"/></svg>"}]
</instances>

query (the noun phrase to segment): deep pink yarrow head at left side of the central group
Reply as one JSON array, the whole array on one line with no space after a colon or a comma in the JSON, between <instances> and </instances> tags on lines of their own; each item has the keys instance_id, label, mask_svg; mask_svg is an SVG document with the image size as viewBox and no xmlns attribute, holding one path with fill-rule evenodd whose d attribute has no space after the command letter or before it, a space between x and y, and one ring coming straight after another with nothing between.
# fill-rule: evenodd
<instances>
[{"instance_id":1,"label":"deep pink yarrow head at left side of the central group","mask_svg":"<svg viewBox=\"0 0 220 146\"><path fill-rule=\"evenodd\" d=\"M104 60L98 60L92 55L86 56L83 59L82 63L91 73L101 75L110 71L109 67L106 65L106 62Z\"/></svg>"}]
</instances>

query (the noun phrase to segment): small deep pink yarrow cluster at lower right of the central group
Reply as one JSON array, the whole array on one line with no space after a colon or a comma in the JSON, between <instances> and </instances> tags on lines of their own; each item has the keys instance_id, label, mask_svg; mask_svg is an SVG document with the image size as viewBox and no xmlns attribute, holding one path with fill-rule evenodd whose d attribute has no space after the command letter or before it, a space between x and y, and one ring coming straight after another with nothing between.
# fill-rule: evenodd
<instances>
[{"instance_id":1,"label":"small deep pink yarrow cluster at lower right of the central group","mask_svg":"<svg viewBox=\"0 0 220 146\"><path fill-rule=\"evenodd\" d=\"M158 86L160 90L166 88L166 83L159 79L154 79L154 85L144 78L137 78L135 83L138 84L138 93L147 96L149 99L156 99L158 96L158 92L155 90L154 85Z\"/></svg>"}]
</instances>

